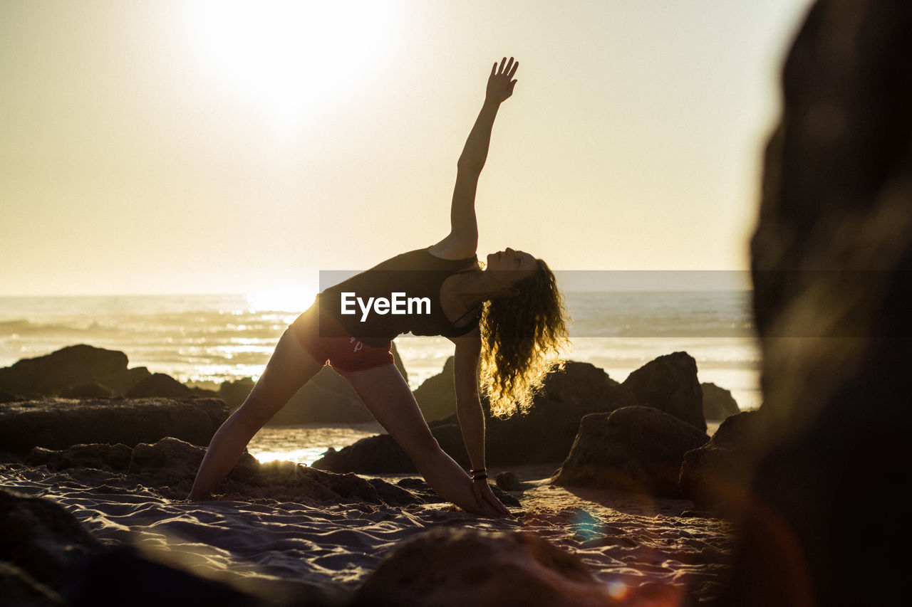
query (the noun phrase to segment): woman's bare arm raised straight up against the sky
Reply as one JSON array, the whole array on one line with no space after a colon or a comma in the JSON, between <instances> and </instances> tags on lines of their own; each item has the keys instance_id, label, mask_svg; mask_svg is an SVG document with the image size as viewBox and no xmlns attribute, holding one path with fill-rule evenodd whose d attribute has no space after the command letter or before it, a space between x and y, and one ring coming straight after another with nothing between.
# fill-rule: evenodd
<instances>
[{"instance_id":1,"label":"woman's bare arm raised straight up against the sky","mask_svg":"<svg viewBox=\"0 0 912 607\"><path fill-rule=\"evenodd\" d=\"M435 253L440 257L461 259L475 254L478 246L478 221L475 219L475 191L478 189L478 177L488 158L491 146L491 130L497 109L506 99L513 95L516 80L513 75L519 67L513 57L507 61L503 57L500 67L494 63L488 77L488 87L484 95L482 111L469 133L469 138L462 148L459 162L456 163L456 186L453 188L453 200L450 209L450 234L435 245Z\"/></svg>"}]
</instances>

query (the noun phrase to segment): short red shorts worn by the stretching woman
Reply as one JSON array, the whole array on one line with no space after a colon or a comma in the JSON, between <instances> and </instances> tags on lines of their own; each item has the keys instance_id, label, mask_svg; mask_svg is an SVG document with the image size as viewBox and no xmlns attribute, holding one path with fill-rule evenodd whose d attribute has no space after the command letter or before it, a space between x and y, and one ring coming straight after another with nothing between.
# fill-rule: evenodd
<instances>
[{"instance_id":1,"label":"short red shorts worn by the stretching woman","mask_svg":"<svg viewBox=\"0 0 912 607\"><path fill-rule=\"evenodd\" d=\"M389 351L392 342L385 348L378 348L358 341L320 306L318 298L289 329L316 360L328 362L340 371L365 371L393 364Z\"/></svg>"}]
</instances>

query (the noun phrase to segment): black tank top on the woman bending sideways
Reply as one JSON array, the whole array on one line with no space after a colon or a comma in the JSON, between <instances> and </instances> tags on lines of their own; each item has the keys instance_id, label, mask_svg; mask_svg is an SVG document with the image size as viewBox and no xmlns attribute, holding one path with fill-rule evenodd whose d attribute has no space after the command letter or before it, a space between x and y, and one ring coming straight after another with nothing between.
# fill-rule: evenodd
<instances>
[{"instance_id":1,"label":"black tank top on the woman bending sideways","mask_svg":"<svg viewBox=\"0 0 912 607\"><path fill-rule=\"evenodd\" d=\"M478 325L481 306L471 311L474 312L471 322L462 324L464 321L460 319L457 321L460 326L456 326L443 314L440 286L453 274L477 267L477 257L441 259L431 254L430 247L404 252L327 288L320 293L319 302L345 327L348 334L358 337L358 340L367 345L386 347L397 335L409 332L415 335L456 337L469 333ZM354 293L347 297L347 309L353 310L354 314L342 314L342 293ZM391 309L386 314L378 314L371 304L367 317L362 320L364 313L355 297L359 297L363 304L368 304L370 297L392 300L393 293L402 293L398 296L397 307L406 314L392 314ZM424 298L427 300L420 301ZM408 314L409 299L417 300L412 302L411 314ZM426 314L429 307L430 313Z\"/></svg>"}]
</instances>

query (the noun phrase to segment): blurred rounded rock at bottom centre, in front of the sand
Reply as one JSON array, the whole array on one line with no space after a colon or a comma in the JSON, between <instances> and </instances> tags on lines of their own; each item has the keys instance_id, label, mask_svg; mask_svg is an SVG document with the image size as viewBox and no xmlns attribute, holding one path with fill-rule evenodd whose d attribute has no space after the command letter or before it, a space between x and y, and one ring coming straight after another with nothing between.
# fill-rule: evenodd
<instances>
[{"instance_id":1,"label":"blurred rounded rock at bottom centre, in front of the sand","mask_svg":"<svg viewBox=\"0 0 912 607\"><path fill-rule=\"evenodd\" d=\"M353 603L595 607L612 600L583 561L534 534L441 528L399 544Z\"/></svg>"}]
</instances>

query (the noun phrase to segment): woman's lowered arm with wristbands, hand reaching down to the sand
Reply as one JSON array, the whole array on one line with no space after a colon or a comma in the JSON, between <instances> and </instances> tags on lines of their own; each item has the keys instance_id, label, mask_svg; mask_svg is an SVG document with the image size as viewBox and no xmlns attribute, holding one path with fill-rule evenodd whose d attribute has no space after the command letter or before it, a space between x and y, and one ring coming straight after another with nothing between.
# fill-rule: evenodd
<instances>
[{"instance_id":1,"label":"woman's lowered arm with wristbands, hand reaching down to the sand","mask_svg":"<svg viewBox=\"0 0 912 607\"><path fill-rule=\"evenodd\" d=\"M456 415L462 432L462 442L469 453L473 470L484 469L484 412L478 396L478 359L482 339L478 329L472 333L453 337L456 345L453 360L453 382L456 388ZM505 516L510 515L500 499L494 495L487 478L472 480L472 493L480 509L492 507Z\"/></svg>"}]
</instances>

